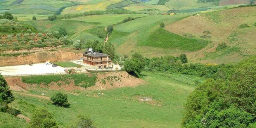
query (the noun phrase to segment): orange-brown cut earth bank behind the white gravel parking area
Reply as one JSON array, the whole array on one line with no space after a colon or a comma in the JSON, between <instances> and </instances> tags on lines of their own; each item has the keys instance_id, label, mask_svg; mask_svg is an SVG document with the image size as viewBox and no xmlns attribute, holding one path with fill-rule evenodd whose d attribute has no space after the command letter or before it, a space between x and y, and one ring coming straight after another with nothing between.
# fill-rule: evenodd
<instances>
[{"instance_id":1,"label":"orange-brown cut earth bank behind the white gravel parking area","mask_svg":"<svg viewBox=\"0 0 256 128\"><path fill-rule=\"evenodd\" d=\"M18 57L0 57L0 66L13 66L45 61L71 61L82 57L81 53L74 53L68 50L58 50L54 52L36 52L34 54L20 55Z\"/></svg>"}]
</instances>

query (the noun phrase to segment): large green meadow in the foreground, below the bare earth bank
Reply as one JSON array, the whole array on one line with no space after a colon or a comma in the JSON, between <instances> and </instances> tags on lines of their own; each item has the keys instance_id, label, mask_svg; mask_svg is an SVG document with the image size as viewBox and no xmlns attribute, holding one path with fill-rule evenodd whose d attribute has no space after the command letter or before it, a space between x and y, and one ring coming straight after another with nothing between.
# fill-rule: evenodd
<instances>
[{"instance_id":1,"label":"large green meadow in the foreground, below the bare earth bank","mask_svg":"<svg viewBox=\"0 0 256 128\"><path fill-rule=\"evenodd\" d=\"M110 127L180 127L182 106L195 85L170 79L157 74L143 72L145 85L135 88L68 93L70 108L56 107L48 100L15 94L16 100L10 104L19 108L31 118L36 108L46 108L54 113L60 126L68 126L78 113L90 114L99 128ZM190 80L190 79L188 79ZM37 88L29 93L50 97L55 91ZM104 95L98 95L104 93ZM151 96L153 103L140 102L139 96Z\"/></svg>"}]
</instances>

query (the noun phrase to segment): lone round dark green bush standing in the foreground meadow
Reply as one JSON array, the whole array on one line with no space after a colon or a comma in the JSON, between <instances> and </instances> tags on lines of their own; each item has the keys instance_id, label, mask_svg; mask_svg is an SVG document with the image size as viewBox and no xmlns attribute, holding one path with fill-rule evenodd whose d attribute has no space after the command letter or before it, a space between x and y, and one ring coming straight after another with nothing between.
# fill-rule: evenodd
<instances>
[{"instance_id":1,"label":"lone round dark green bush standing in the foreground meadow","mask_svg":"<svg viewBox=\"0 0 256 128\"><path fill-rule=\"evenodd\" d=\"M67 94L57 92L52 95L51 100L55 106L69 107L69 103L67 101Z\"/></svg>"}]
</instances>

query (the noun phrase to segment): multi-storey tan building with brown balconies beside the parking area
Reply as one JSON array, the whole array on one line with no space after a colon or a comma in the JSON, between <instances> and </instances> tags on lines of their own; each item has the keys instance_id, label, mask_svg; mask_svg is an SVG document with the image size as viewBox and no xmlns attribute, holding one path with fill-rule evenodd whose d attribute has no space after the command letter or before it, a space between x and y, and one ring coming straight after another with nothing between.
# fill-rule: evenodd
<instances>
[{"instance_id":1,"label":"multi-storey tan building with brown balconies beside the parking area","mask_svg":"<svg viewBox=\"0 0 256 128\"><path fill-rule=\"evenodd\" d=\"M109 68L111 66L111 59L109 58L109 55L95 52L92 48L88 48L88 50L83 53L83 62L85 64L98 66L99 69Z\"/></svg>"}]
</instances>

